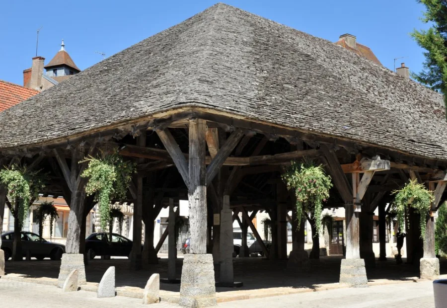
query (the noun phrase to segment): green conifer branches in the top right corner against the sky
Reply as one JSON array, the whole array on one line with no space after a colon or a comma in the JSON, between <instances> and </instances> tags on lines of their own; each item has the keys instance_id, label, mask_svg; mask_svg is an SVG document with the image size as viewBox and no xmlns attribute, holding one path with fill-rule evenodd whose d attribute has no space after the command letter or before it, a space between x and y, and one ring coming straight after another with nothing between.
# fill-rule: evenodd
<instances>
[{"instance_id":1,"label":"green conifer branches in the top right corner against the sky","mask_svg":"<svg viewBox=\"0 0 447 308\"><path fill-rule=\"evenodd\" d=\"M444 94L447 106L447 1L418 0L427 11L422 21L430 23L428 30L414 30L411 35L419 46L426 49L424 53L424 70L413 77L421 83L439 90ZM447 113L446 113L447 116Z\"/></svg>"}]
</instances>

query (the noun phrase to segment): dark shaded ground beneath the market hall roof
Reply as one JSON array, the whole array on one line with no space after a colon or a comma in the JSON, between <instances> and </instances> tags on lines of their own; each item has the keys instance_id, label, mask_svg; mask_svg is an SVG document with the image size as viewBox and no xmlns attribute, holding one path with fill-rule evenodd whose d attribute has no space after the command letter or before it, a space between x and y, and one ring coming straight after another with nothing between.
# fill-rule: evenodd
<instances>
[{"instance_id":1,"label":"dark shaded ground beneath the market hall roof","mask_svg":"<svg viewBox=\"0 0 447 308\"><path fill-rule=\"evenodd\" d=\"M177 278L181 277L183 259L177 260ZM234 280L244 283L242 288L217 288L217 292L231 290L254 290L264 288L292 287L314 288L315 285L338 283L341 257L322 257L310 262L310 270L294 271L287 268L287 260L266 260L261 257L234 258ZM90 260L85 267L88 282L99 283L109 266L116 268L116 287L144 288L153 273L167 278L167 259L159 259L159 264L147 265L135 271L130 269L128 259ZM21 261L6 262L6 273L20 274L27 278L58 278L60 261ZM219 266L215 267L216 281L219 281ZM447 274L447 259L441 259L441 274ZM404 281L419 275L419 269L412 265L397 265L393 259L376 260L375 268L367 268L368 280ZM180 291L180 285L160 285L161 290Z\"/></svg>"}]
</instances>

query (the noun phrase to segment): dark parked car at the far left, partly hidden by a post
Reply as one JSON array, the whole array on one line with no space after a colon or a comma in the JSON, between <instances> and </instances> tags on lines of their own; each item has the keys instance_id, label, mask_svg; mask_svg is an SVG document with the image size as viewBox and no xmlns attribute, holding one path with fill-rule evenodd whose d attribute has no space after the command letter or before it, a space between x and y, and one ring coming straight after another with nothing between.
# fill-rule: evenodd
<instances>
[{"instance_id":1,"label":"dark parked car at the far left, partly hidden by a post","mask_svg":"<svg viewBox=\"0 0 447 308\"><path fill-rule=\"evenodd\" d=\"M29 250L31 257L43 260L46 257L54 261L59 261L65 253L65 246L58 243L49 242L36 233L21 231L22 252L26 256ZM4 259L8 260L12 255L12 244L14 242L14 232L1 234L1 249L4 251Z\"/></svg>"}]
</instances>

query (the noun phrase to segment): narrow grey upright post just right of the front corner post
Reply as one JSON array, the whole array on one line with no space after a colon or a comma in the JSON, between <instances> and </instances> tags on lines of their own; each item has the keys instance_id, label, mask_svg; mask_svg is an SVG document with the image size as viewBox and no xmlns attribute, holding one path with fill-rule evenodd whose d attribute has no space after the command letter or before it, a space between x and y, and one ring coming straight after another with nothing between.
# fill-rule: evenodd
<instances>
[{"instance_id":1,"label":"narrow grey upright post just right of the front corner post","mask_svg":"<svg viewBox=\"0 0 447 308\"><path fill-rule=\"evenodd\" d=\"M233 276L233 219L229 207L229 196L224 195L224 203L221 211L221 276L220 282L232 285Z\"/></svg>"}]
</instances>

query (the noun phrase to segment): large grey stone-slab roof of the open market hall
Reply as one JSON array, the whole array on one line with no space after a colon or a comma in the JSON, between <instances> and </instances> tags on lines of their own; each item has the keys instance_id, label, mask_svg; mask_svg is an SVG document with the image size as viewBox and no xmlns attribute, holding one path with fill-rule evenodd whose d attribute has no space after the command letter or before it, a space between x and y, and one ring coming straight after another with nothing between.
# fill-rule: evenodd
<instances>
[{"instance_id":1,"label":"large grey stone-slab roof of the open market hall","mask_svg":"<svg viewBox=\"0 0 447 308\"><path fill-rule=\"evenodd\" d=\"M447 160L440 94L221 3L0 113L0 149L182 107Z\"/></svg>"}]
</instances>

